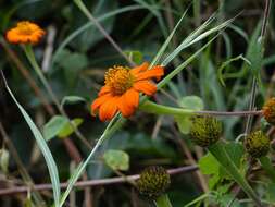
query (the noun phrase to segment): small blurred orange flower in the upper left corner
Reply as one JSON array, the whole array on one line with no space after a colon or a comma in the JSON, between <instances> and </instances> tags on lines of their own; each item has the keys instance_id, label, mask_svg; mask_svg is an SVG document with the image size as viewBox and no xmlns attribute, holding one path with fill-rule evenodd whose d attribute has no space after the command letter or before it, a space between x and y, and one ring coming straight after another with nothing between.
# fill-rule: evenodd
<instances>
[{"instance_id":1,"label":"small blurred orange flower in the upper left corner","mask_svg":"<svg viewBox=\"0 0 275 207\"><path fill-rule=\"evenodd\" d=\"M28 21L22 21L8 31L5 37L11 44L37 44L43 35L45 31L38 25Z\"/></svg>"}]
</instances>

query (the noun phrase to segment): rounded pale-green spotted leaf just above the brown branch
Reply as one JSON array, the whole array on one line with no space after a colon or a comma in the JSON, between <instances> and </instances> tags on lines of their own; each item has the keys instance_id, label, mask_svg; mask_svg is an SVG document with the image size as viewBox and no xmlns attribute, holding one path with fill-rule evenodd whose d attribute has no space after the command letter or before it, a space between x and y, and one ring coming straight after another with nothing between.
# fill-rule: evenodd
<instances>
[{"instance_id":1,"label":"rounded pale-green spotted leaf just above the brown branch","mask_svg":"<svg viewBox=\"0 0 275 207\"><path fill-rule=\"evenodd\" d=\"M113 170L128 170L129 156L123 150L110 149L104 153L103 159L105 163Z\"/></svg>"}]
</instances>

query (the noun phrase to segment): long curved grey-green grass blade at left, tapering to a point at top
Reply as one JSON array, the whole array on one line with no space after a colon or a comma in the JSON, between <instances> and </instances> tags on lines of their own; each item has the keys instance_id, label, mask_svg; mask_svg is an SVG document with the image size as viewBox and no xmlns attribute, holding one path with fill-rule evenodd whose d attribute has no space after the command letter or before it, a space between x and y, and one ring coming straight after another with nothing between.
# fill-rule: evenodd
<instances>
[{"instance_id":1,"label":"long curved grey-green grass blade at left, tapering to a point at top","mask_svg":"<svg viewBox=\"0 0 275 207\"><path fill-rule=\"evenodd\" d=\"M3 74L2 74L3 76ZM3 76L4 78L4 76ZM42 134L40 133L40 131L38 130L38 127L35 125L35 123L33 122L33 120L30 119L30 117L27 114L27 112L25 111L25 109L17 102L16 98L14 97L14 95L12 94L11 89L8 86L8 83L4 80L4 84L5 87L9 92L9 94L11 95L12 99L14 100L14 102L16 104L16 106L18 107L22 115L24 117L25 121L27 122L29 129L32 130L37 145L39 146L43 158L46 160L49 173L50 173L50 178L51 178L51 184L52 184L52 190L53 190L53 198L54 198L54 205L59 206L60 204L60 181L59 181L59 171L58 171L58 167L55 165L55 161L52 157L52 154L42 136Z\"/></svg>"}]
</instances>

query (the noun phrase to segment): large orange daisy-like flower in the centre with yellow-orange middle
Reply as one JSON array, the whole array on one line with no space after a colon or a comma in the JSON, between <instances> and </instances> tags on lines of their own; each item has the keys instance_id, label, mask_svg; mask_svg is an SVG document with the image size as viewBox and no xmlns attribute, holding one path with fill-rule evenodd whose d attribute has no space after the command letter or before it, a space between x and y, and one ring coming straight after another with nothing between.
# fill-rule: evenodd
<instances>
[{"instance_id":1,"label":"large orange daisy-like flower in the centre with yellow-orange middle","mask_svg":"<svg viewBox=\"0 0 275 207\"><path fill-rule=\"evenodd\" d=\"M125 66L114 66L105 73L105 85L98 93L98 98L91 105L91 112L99 111L101 121L111 120L117 111L123 117L132 115L139 104L139 93L152 96L157 92L157 86L152 78L159 80L164 74L161 65L155 65L148 70L149 64L128 69Z\"/></svg>"}]
</instances>

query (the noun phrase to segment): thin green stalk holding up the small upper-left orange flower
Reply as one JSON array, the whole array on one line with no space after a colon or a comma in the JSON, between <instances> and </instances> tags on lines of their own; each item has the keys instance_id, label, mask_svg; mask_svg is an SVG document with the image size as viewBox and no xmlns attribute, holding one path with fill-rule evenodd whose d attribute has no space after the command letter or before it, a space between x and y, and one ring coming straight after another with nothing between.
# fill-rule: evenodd
<instances>
[{"instance_id":1,"label":"thin green stalk holding up the small upper-left orange flower","mask_svg":"<svg viewBox=\"0 0 275 207\"><path fill-rule=\"evenodd\" d=\"M66 112L64 111L64 109L61 107L58 97L55 96L55 94L53 93L51 86L49 85L48 81L46 80L40 66L38 65L34 51L32 49L30 45L24 45L23 46L24 52L28 59L28 61L30 62L32 66L34 68L36 74L38 75L38 77L40 78L40 81L42 82L45 88L47 89L48 94L50 95L52 101L54 102L54 105L57 106L59 112L67 118L67 120L70 120L68 115L66 114ZM77 129L77 126L75 125L74 122L72 122L70 120L70 125L74 129L75 134L77 135L77 137L89 148L91 149L91 145L89 144L89 142L84 137L84 135L79 132L79 130Z\"/></svg>"}]
</instances>

